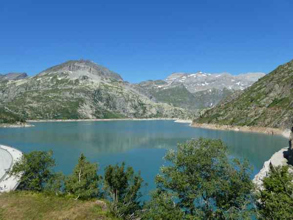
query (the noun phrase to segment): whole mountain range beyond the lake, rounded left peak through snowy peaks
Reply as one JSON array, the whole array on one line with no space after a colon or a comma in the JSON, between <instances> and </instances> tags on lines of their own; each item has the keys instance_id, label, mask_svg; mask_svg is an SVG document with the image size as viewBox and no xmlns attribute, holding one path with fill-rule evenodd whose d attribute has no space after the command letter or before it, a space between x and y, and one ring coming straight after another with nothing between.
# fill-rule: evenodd
<instances>
[{"instance_id":1,"label":"whole mountain range beyond the lake, rounded left peak through snowy peaks","mask_svg":"<svg viewBox=\"0 0 293 220\"><path fill-rule=\"evenodd\" d=\"M0 121L14 123L13 118L193 119L200 110L214 107L263 75L173 73L165 80L131 84L94 62L67 61L34 77L26 73L0 74L0 103L6 108L2 109Z\"/></svg>"}]
</instances>

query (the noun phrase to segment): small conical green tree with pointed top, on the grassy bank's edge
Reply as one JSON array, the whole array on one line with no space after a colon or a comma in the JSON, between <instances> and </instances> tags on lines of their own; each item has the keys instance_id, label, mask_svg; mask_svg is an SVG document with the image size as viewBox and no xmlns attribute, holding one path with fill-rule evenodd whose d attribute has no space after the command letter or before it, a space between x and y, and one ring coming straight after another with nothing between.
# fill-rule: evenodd
<instances>
[{"instance_id":1,"label":"small conical green tree with pointed top, on the grassy bank's edge","mask_svg":"<svg viewBox=\"0 0 293 220\"><path fill-rule=\"evenodd\" d=\"M84 154L81 154L73 173L65 179L65 192L74 195L76 199L97 197L101 179L97 172L98 164L90 163Z\"/></svg>"}]
</instances>

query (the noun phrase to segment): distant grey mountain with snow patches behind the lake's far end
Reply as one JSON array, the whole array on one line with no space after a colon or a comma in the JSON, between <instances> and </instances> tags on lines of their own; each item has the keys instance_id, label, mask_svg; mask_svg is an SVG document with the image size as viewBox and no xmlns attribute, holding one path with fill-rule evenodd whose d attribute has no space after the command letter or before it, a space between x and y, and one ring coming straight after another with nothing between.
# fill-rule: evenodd
<instances>
[{"instance_id":1,"label":"distant grey mountain with snow patches behind the lake's far end","mask_svg":"<svg viewBox=\"0 0 293 220\"><path fill-rule=\"evenodd\" d=\"M154 101L166 102L189 110L210 108L236 90L252 85L265 73L172 73L165 80L148 80L137 84L146 89Z\"/></svg>"}]
</instances>

